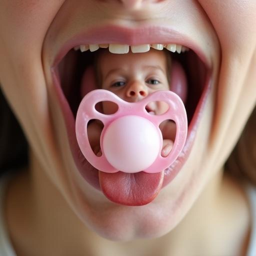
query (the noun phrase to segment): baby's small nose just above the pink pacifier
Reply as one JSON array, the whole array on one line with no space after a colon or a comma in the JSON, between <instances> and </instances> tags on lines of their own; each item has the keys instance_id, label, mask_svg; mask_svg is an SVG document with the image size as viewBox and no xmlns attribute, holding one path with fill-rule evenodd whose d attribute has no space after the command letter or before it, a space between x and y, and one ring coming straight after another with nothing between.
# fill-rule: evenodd
<instances>
[{"instance_id":1,"label":"baby's small nose just above the pink pacifier","mask_svg":"<svg viewBox=\"0 0 256 256\"><path fill-rule=\"evenodd\" d=\"M126 96L130 100L140 100L148 95L147 87L139 82L139 81L132 81L129 86L127 86Z\"/></svg>"}]
</instances>

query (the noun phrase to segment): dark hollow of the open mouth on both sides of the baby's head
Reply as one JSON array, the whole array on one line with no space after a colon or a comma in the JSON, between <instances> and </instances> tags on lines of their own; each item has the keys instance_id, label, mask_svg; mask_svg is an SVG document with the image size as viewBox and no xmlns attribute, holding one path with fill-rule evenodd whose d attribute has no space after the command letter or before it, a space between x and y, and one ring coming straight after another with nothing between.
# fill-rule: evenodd
<instances>
[{"instance_id":1,"label":"dark hollow of the open mouth on both sides of the baby's head","mask_svg":"<svg viewBox=\"0 0 256 256\"><path fill-rule=\"evenodd\" d=\"M73 118L76 116L78 106L82 99L80 92L82 75L86 68L93 64L94 54L94 51L87 50L81 52L80 50L72 48L57 65L56 72L60 82L61 91L68 103ZM180 53L169 51L168 54L171 55L172 60L181 64L185 72L187 80L187 96L184 105L189 128L195 109L206 86L208 69L192 49ZM150 111L147 107L146 110Z\"/></svg>"}]
</instances>

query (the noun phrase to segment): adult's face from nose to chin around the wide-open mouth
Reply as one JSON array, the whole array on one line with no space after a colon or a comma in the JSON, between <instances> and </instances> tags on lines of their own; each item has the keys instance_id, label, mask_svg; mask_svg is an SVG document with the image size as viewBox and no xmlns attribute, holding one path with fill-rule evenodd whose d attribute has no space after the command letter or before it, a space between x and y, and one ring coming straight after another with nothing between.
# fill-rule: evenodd
<instances>
[{"instance_id":1,"label":"adult's face from nose to chin around the wide-open mouth","mask_svg":"<svg viewBox=\"0 0 256 256\"><path fill-rule=\"evenodd\" d=\"M36 156L37 165L32 170L36 172L33 177L37 177L34 185L43 182L40 194L55 191L47 189L45 175L71 205L75 216L111 239L155 237L174 228L198 194L207 194L201 193L202 189L210 187L216 173L220 173L255 105L256 1L1 0L0 10L1 88ZM51 73L63 45L88 29L89 43L118 43L119 34L110 35L105 25L111 25L111 29L124 26L121 32L140 29L127 32L119 43L167 41L191 47L201 52L212 70L211 89L197 112L198 125L194 129L188 127L195 135L188 158L155 200L141 207L114 204L81 177L75 163L78 149L70 143L74 116L64 105L64 96L59 96ZM97 27L104 28L93 37ZM86 42L86 36L76 41ZM69 46L75 45L70 42ZM67 71L71 68L72 65L67 66ZM189 88L188 97L191 101L194 97ZM97 172L86 160L84 166L89 173L95 173L91 180L97 180Z\"/></svg>"}]
</instances>

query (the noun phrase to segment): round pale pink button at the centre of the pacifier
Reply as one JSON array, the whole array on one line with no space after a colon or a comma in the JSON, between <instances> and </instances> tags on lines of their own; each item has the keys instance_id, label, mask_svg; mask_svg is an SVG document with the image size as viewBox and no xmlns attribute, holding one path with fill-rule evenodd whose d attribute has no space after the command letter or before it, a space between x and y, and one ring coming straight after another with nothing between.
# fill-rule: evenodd
<instances>
[{"instance_id":1,"label":"round pale pink button at the centre of the pacifier","mask_svg":"<svg viewBox=\"0 0 256 256\"><path fill-rule=\"evenodd\" d=\"M148 168L156 159L161 137L149 120L137 116L119 117L102 134L107 161L117 170L133 173Z\"/></svg>"}]
</instances>

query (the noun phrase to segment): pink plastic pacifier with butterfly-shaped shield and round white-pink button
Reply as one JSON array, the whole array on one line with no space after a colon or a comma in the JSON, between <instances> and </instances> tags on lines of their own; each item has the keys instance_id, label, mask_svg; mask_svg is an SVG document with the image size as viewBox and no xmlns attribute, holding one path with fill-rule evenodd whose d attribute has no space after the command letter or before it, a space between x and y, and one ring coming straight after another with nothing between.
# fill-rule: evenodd
<instances>
[{"instance_id":1,"label":"pink plastic pacifier with butterfly-shaped shield and round white-pink button","mask_svg":"<svg viewBox=\"0 0 256 256\"><path fill-rule=\"evenodd\" d=\"M101 101L116 103L118 110L113 114L98 112L95 105ZM169 108L163 114L152 115L145 109L152 101L164 101ZM87 124L91 119L104 124L100 135L101 156L96 156L89 144ZM176 135L170 153L163 157L159 124L168 119L175 122ZM75 131L81 152L95 168L109 173L155 173L170 166L181 152L187 134L186 111L182 100L172 91L159 90L140 101L127 102L108 90L96 89L83 97Z\"/></svg>"}]
</instances>

